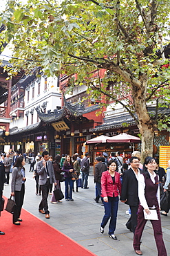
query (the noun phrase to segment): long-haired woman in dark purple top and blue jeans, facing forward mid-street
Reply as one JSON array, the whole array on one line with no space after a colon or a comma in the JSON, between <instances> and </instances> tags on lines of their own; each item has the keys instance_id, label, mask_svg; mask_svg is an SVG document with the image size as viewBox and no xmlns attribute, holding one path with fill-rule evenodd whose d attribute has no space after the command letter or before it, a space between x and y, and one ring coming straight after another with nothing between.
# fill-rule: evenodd
<instances>
[{"instance_id":1,"label":"long-haired woman in dark purple top and blue jeans, facing forward mid-street","mask_svg":"<svg viewBox=\"0 0 170 256\"><path fill-rule=\"evenodd\" d=\"M64 163L63 163L63 172L65 172L65 200L66 201L74 201L72 199L72 189L73 189L73 181L72 181L72 172L74 172L73 169L73 163L72 159L69 155L67 155Z\"/></svg>"}]
</instances>

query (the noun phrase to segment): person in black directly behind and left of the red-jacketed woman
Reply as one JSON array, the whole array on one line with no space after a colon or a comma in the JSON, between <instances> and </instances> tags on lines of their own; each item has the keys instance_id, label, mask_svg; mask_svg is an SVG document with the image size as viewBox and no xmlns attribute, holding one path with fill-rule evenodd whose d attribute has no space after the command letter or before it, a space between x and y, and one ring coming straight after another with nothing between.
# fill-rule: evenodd
<instances>
[{"instance_id":1,"label":"person in black directly behind and left of the red-jacketed woman","mask_svg":"<svg viewBox=\"0 0 170 256\"><path fill-rule=\"evenodd\" d=\"M94 183L96 183L98 195L100 196L103 206L103 197L101 196L101 176L103 172L107 171L107 165L105 164L105 162L102 162L102 160L102 157L96 157L96 165L94 168Z\"/></svg>"}]
</instances>

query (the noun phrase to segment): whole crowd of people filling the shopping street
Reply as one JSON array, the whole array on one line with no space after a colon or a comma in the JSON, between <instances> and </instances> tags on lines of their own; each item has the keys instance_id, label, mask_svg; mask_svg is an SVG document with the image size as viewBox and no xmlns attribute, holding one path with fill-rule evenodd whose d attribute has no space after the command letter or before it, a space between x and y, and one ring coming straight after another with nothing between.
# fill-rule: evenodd
<instances>
[{"instance_id":1,"label":"whole crowd of people filling the shopping street","mask_svg":"<svg viewBox=\"0 0 170 256\"><path fill-rule=\"evenodd\" d=\"M14 196L16 208L12 215L12 223L21 225L21 208L23 205L25 193L25 160L28 158L30 163L30 172L36 181L36 195L42 195L39 203L39 212L45 214L46 219L50 219L47 197L52 194L51 203L62 203L56 200L54 191L61 190L61 182L65 182L65 201L74 201L74 184L76 192L80 185L79 177L81 174L81 188L88 189L89 176L89 153L81 159L78 153L70 155L56 155L53 159L45 150L42 155L39 153L34 156L21 156L10 153L6 156L1 154L0 159L0 198L2 196L3 184L8 185L10 172L11 196ZM126 223L127 228L134 233L134 250L137 255L142 255L140 250L142 232L149 219L149 215L156 211L157 219L150 219L153 226L153 233L156 240L158 255L167 256L167 251L162 239L162 228L160 214L167 216L170 209L170 161L168 162L167 174L162 167L159 167L158 159L147 157L143 165L140 163L140 152L133 152L131 158L123 163L123 157L120 152L111 153L110 156L103 152L103 156L96 157L94 167L94 183L96 184L96 198L99 199L105 208L105 214L100 223L100 233L103 234L105 226L109 221L108 235L116 240L116 219L118 213L118 201L129 205L130 217ZM160 212L160 194L168 191L167 209ZM1 203L1 201L0 201ZM0 205L1 206L1 205ZM147 218L145 216L147 214ZM0 232L0 235L4 235Z\"/></svg>"}]
</instances>

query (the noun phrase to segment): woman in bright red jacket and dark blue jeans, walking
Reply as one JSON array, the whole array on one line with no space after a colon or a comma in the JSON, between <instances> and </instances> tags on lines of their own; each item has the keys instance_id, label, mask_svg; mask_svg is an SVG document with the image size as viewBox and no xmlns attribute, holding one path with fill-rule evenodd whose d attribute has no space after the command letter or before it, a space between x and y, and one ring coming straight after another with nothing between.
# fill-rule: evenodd
<instances>
[{"instance_id":1,"label":"woman in bright red jacket and dark blue jeans, walking","mask_svg":"<svg viewBox=\"0 0 170 256\"><path fill-rule=\"evenodd\" d=\"M105 207L105 215L103 217L100 232L103 234L104 228L109 221L109 237L117 240L114 235L116 229L116 219L118 212L118 194L121 195L120 174L118 173L118 164L115 160L109 161L109 170L103 172L101 178L103 204Z\"/></svg>"}]
</instances>

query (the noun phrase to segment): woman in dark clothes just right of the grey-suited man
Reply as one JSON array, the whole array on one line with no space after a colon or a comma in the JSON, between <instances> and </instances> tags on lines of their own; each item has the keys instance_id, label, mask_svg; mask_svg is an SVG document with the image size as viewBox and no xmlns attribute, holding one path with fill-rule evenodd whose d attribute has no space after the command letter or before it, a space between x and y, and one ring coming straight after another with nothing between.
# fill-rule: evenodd
<instances>
[{"instance_id":1,"label":"woman in dark clothes just right of the grey-suited man","mask_svg":"<svg viewBox=\"0 0 170 256\"><path fill-rule=\"evenodd\" d=\"M55 174L55 178L56 178L56 183L57 185L55 186L54 190L56 190L57 188L61 189L61 184L60 184L60 180L61 180L61 166L60 166L60 161L61 161L61 156L60 155L56 155L54 158L54 162L52 163L53 168L54 168L54 174ZM55 196L54 196L54 192L52 192L52 198L51 198L51 203L62 203L61 200L56 201Z\"/></svg>"}]
</instances>

